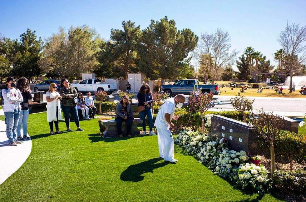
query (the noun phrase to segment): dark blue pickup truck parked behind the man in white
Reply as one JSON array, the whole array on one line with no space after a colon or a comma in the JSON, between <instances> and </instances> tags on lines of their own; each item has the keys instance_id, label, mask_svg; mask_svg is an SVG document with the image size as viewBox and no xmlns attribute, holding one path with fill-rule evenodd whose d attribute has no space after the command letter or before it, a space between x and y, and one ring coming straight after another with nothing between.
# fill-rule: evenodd
<instances>
[{"instance_id":1,"label":"dark blue pickup truck parked behind the man in white","mask_svg":"<svg viewBox=\"0 0 306 202\"><path fill-rule=\"evenodd\" d=\"M198 81L195 79L184 79L176 81L173 85L162 85L160 91L168 94L168 96L184 94L189 95L195 88L202 89L202 92L213 93L219 95L221 91L217 85L198 85Z\"/></svg>"}]
</instances>

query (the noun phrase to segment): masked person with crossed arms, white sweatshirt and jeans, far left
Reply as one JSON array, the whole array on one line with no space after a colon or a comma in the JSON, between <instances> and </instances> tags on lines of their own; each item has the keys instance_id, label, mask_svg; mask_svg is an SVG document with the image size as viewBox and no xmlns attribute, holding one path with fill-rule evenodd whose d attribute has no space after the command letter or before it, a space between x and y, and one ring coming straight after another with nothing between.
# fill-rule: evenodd
<instances>
[{"instance_id":1,"label":"masked person with crossed arms, white sweatshirt and jeans, far left","mask_svg":"<svg viewBox=\"0 0 306 202\"><path fill-rule=\"evenodd\" d=\"M2 89L2 96L4 101L4 116L6 119L6 135L8 138L8 144L16 146L21 144L21 141L17 140L17 126L20 117L21 105L23 97L19 89L15 88L15 79L13 77L7 77L5 88Z\"/></svg>"}]
</instances>

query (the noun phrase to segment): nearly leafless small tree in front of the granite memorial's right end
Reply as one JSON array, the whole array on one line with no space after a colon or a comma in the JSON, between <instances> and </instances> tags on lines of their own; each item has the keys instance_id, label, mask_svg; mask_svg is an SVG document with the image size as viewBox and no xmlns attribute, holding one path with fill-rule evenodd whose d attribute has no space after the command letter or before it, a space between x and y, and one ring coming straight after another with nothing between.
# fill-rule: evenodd
<instances>
[{"instance_id":1,"label":"nearly leafless small tree in front of the granite memorial's right end","mask_svg":"<svg viewBox=\"0 0 306 202\"><path fill-rule=\"evenodd\" d=\"M256 118L257 116L257 118ZM271 174L275 171L275 155L274 155L274 140L279 135L279 132L284 127L281 116L273 115L273 112L259 111L259 114L254 114L251 111L251 119L249 126L253 128L257 135L262 135L265 142L270 144L271 155Z\"/></svg>"}]
</instances>

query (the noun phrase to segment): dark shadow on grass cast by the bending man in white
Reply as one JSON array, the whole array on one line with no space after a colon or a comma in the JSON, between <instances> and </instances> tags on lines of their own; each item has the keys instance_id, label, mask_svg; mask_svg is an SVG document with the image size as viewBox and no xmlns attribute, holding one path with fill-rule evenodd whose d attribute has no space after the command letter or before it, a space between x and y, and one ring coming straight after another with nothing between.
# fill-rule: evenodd
<instances>
[{"instance_id":1,"label":"dark shadow on grass cast by the bending man in white","mask_svg":"<svg viewBox=\"0 0 306 202\"><path fill-rule=\"evenodd\" d=\"M162 162L157 163L161 160ZM170 163L165 162L161 158L154 158L135 165L130 165L126 170L121 173L120 179L122 181L140 182L145 178L144 176L142 176L143 174L148 172L153 173L154 169L163 167L168 164Z\"/></svg>"}]
</instances>

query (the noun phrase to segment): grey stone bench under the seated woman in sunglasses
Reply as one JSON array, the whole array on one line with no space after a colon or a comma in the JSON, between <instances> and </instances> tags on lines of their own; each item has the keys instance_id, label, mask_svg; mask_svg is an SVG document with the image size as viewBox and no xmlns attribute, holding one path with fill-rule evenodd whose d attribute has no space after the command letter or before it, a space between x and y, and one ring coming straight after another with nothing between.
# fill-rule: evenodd
<instances>
[{"instance_id":1,"label":"grey stone bench under the seated woman in sunglasses","mask_svg":"<svg viewBox=\"0 0 306 202\"><path fill-rule=\"evenodd\" d=\"M134 123L132 124L132 131L131 131L131 135L140 135L140 131L137 128L137 124L142 123L142 120L140 118L135 118ZM105 126L106 129L104 132L100 131L103 134L103 138L106 137L119 137L118 135L118 131L117 131L117 122L115 121L115 119L111 119L111 120L101 120L100 124L102 126ZM127 135L127 127L126 127L126 122L124 121L122 123L122 133L123 135ZM100 127L101 128L101 127Z\"/></svg>"}]
</instances>

